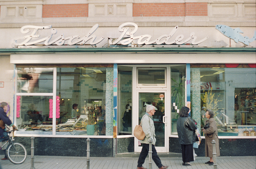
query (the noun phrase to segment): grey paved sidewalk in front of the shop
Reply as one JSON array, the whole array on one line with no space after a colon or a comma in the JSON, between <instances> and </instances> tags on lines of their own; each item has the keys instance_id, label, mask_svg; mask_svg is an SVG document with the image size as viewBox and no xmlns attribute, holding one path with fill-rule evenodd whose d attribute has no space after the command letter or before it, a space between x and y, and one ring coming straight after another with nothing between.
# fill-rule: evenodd
<instances>
[{"instance_id":1,"label":"grey paved sidewalk in front of the shop","mask_svg":"<svg viewBox=\"0 0 256 169\"><path fill-rule=\"evenodd\" d=\"M87 168L87 157L61 157L61 156L35 156L34 168ZM90 169L136 169L138 158L114 158L114 157L90 157ZM209 161L206 157L196 157L195 161L191 162L191 166L183 166L182 158L180 157L162 157L163 165L169 165L169 168L214 168L205 162ZM255 169L256 156L242 156L242 157L218 157L217 167L223 169ZM3 169L22 169L31 168L31 158L27 157L22 164L13 164L9 160L0 160ZM148 167L148 158L143 165ZM157 169L157 166L152 162L152 168Z\"/></svg>"}]
</instances>

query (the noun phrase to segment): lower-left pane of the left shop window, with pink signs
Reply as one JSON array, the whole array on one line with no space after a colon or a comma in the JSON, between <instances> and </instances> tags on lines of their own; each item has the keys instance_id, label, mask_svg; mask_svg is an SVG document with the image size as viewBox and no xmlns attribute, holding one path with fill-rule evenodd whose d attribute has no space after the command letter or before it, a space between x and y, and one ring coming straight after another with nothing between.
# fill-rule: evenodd
<instances>
[{"instance_id":1,"label":"lower-left pane of the left shop window, with pink signs","mask_svg":"<svg viewBox=\"0 0 256 169\"><path fill-rule=\"evenodd\" d=\"M17 105L20 105L16 110L19 132L52 134L48 133L52 131L50 99L52 96L17 96Z\"/></svg>"}]
</instances>

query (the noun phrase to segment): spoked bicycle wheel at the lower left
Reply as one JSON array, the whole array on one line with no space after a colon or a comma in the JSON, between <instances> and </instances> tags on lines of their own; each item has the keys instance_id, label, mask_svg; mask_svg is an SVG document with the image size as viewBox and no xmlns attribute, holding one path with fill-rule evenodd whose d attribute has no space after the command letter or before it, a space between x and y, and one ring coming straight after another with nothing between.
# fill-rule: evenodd
<instances>
[{"instance_id":1,"label":"spoked bicycle wheel at the lower left","mask_svg":"<svg viewBox=\"0 0 256 169\"><path fill-rule=\"evenodd\" d=\"M21 164L27 158L27 150L23 144L13 142L7 148L7 155L9 160L14 164Z\"/></svg>"}]
</instances>

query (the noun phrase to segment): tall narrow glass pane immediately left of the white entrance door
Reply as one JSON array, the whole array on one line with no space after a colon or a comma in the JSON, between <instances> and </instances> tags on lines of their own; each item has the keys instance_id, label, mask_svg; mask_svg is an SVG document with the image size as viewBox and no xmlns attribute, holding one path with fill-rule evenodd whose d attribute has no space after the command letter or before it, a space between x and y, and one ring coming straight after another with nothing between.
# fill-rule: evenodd
<instances>
[{"instance_id":1,"label":"tall narrow glass pane immediately left of the white entrance door","mask_svg":"<svg viewBox=\"0 0 256 169\"><path fill-rule=\"evenodd\" d=\"M118 66L118 134L132 133L132 67Z\"/></svg>"}]
</instances>

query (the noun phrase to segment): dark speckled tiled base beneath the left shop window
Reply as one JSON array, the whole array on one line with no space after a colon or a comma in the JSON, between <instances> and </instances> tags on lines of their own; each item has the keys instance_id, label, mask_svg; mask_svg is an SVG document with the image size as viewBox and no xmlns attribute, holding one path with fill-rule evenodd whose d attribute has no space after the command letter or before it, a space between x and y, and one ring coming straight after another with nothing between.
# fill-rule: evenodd
<instances>
[{"instance_id":1,"label":"dark speckled tiled base beneath the left shop window","mask_svg":"<svg viewBox=\"0 0 256 169\"><path fill-rule=\"evenodd\" d=\"M35 137L34 155L38 156L87 156L87 138ZM113 138L90 138L91 157L113 157ZM31 154L31 137L15 137Z\"/></svg>"}]
</instances>

